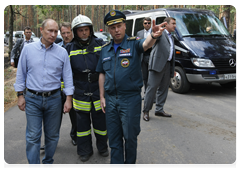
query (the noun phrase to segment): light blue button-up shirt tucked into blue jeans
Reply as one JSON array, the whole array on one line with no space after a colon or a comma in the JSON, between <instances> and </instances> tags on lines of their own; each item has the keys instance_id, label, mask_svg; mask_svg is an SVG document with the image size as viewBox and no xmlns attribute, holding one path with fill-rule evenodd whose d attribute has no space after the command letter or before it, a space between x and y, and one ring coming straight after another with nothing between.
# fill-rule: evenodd
<instances>
[{"instance_id":1,"label":"light blue button-up shirt tucked into blue jeans","mask_svg":"<svg viewBox=\"0 0 240 170\"><path fill-rule=\"evenodd\" d=\"M46 49L40 40L23 48L14 88L15 91L23 91L27 87L37 92L48 92L61 87L61 77L64 93L72 95L74 86L67 51L55 43Z\"/></svg>"}]
</instances>

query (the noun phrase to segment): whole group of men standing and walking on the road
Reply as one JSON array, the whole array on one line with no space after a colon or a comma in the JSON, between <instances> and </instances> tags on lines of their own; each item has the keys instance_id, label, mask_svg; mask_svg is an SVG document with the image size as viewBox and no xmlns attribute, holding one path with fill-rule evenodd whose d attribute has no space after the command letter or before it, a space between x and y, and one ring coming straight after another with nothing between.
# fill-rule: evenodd
<instances>
[{"instance_id":1,"label":"whole group of men standing and walking on the road","mask_svg":"<svg viewBox=\"0 0 240 170\"><path fill-rule=\"evenodd\" d=\"M113 38L109 43L94 35L92 21L84 15L60 27L52 19L44 20L39 42L30 40L30 27L24 29L25 39L13 48L11 64L18 67L14 84L18 107L26 112L29 167L41 167L43 126L42 163L44 168L53 168L62 113L69 113L70 136L81 161L93 155L94 133L101 156L109 156L108 145L111 149L111 168L136 167L143 82L143 119L149 121L155 98L155 115L171 117L163 111L163 105L169 79L174 75L171 32L176 27L175 19L166 18L156 25L155 20L144 18L141 38L125 34L125 20L118 10L104 17ZM63 41L55 43L59 28Z\"/></svg>"}]
</instances>

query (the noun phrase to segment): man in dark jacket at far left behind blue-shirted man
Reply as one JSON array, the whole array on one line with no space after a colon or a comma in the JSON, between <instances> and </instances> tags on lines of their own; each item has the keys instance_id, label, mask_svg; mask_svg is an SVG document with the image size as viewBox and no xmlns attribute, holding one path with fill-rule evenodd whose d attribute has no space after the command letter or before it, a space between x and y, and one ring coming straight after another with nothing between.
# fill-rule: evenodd
<instances>
[{"instance_id":1,"label":"man in dark jacket at far left behind blue-shirted man","mask_svg":"<svg viewBox=\"0 0 240 170\"><path fill-rule=\"evenodd\" d=\"M11 51L11 66L13 66L15 68L17 68L19 56L20 56L20 53L21 53L24 45L33 42L32 38L31 38L32 30L30 27L27 26L24 28L24 35L25 35L25 38L17 39L17 42Z\"/></svg>"}]
</instances>

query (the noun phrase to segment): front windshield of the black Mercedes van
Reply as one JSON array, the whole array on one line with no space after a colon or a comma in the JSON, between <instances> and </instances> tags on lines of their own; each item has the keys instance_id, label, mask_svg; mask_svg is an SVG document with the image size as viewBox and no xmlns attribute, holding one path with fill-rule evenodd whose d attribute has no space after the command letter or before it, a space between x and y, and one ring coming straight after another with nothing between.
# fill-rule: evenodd
<instances>
[{"instance_id":1,"label":"front windshield of the black Mercedes van","mask_svg":"<svg viewBox=\"0 0 240 170\"><path fill-rule=\"evenodd\" d=\"M210 13L169 12L169 14L176 19L177 29L183 37L230 35L222 22Z\"/></svg>"}]
</instances>

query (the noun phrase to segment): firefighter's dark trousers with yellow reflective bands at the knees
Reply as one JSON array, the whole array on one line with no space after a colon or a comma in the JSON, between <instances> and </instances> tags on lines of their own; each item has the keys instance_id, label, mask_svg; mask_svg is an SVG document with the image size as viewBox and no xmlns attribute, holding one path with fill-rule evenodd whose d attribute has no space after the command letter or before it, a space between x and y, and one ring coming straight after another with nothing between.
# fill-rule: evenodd
<instances>
[{"instance_id":1,"label":"firefighter's dark trousers with yellow reflective bands at the knees","mask_svg":"<svg viewBox=\"0 0 240 170\"><path fill-rule=\"evenodd\" d=\"M96 137L97 149L99 152L105 152L108 149L107 145L107 129L105 113L95 111L92 105L90 112L75 110L77 115L77 153L78 155L87 155L93 152L92 147L92 129ZM92 120L92 121L91 121Z\"/></svg>"}]
</instances>

